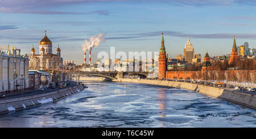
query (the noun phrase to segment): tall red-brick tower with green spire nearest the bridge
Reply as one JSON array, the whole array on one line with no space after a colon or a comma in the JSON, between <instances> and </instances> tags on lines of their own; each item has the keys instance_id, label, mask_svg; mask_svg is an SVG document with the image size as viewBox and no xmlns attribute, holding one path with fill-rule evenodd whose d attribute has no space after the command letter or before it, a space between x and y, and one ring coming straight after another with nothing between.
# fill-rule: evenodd
<instances>
[{"instance_id":1,"label":"tall red-brick tower with green spire nearest the bridge","mask_svg":"<svg viewBox=\"0 0 256 139\"><path fill-rule=\"evenodd\" d=\"M158 58L158 78L166 78L166 71L167 71L167 54L166 48L164 48L164 40L163 40L163 33L162 33L162 41L161 47L159 52Z\"/></svg>"}]
</instances>

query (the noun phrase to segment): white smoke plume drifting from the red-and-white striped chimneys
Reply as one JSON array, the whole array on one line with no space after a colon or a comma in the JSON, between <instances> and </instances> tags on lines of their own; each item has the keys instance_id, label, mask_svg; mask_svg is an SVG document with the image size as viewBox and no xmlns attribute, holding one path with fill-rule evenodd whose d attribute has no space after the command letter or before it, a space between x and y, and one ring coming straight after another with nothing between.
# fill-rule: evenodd
<instances>
[{"instance_id":1,"label":"white smoke plume drifting from the red-and-white striped chimneys","mask_svg":"<svg viewBox=\"0 0 256 139\"><path fill-rule=\"evenodd\" d=\"M101 44L101 41L105 41L105 35L106 34L99 34L98 36L92 36L89 39L86 39L84 44L82 44L82 50L87 52L87 50L92 50L92 48L98 47Z\"/></svg>"}]
</instances>

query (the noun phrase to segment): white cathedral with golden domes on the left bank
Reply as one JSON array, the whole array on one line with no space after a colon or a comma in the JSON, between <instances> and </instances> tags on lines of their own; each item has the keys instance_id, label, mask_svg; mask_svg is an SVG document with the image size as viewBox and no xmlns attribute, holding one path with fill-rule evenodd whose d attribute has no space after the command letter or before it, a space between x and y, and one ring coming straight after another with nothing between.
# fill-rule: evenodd
<instances>
[{"instance_id":1,"label":"white cathedral with golden domes on the left bank","mask_svg":"<svg viewBox=\"0 0 256 139\"><path fill-rule=\"evenodd\" d=\"M39 43L39 54L35 54L33 46L29 59L30 70L58 70L63 68L63 59L60 57L59 45L56 49L56 54L53 54L52 41L48 39L46 33Z\"/></svg>"}]
</instances>

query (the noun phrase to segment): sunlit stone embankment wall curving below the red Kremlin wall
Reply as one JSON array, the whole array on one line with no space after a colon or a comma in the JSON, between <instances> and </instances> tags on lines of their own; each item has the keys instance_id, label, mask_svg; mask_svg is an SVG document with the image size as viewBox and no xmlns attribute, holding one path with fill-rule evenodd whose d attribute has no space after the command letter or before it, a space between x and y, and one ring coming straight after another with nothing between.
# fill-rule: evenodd
<instances>
[{"instance_id":1,"label":"sunlit stone embankment wall curving below the red Kremlin wall","mask_svg":"<svg viewBox=\"0 0 256 139\"><path fill-rule=\"evenodd\" d=\"M170 87L176 87L181 89L187 89L187 90L200 92L205 95L228 100L229 102L241 104L243 106L256 109L256 95L249 94L246 92L241 92L241 91L231 91L231 90L221 89L218 87L197 85L197 84L188 83L188 82L156 81L156 80L148 80L148 79L130 79L130 78L119 78L113 81L145 83L150 85L170 86Z\"/></svg>"}]
</instances>

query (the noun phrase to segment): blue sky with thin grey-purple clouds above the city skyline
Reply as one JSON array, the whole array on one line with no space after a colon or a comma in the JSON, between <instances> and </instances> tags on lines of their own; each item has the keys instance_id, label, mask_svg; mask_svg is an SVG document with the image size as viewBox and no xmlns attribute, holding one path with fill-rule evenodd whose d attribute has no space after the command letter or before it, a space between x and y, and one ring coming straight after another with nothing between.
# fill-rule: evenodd
<instances>
[{"instance_id":1,"label":"blue sky with thin grey-purple clouds above the city skyline","mask_svg":"<svg viewBox=\"0 0 256 139\"><path fill-rule=\"evenodd\" d=\"M195 54L221 56L236 44L256 46L256 0L0 0L0 45L30 54L47 30L53 52L60 45L63 60L84 62L85 39L105 34L92 49L159 52L162 32L169 57L183 54L190 37ZM128 55L128 54L127 54ZM86 60L89 60L87 56Z\"/></svg>"}]
</instances>

